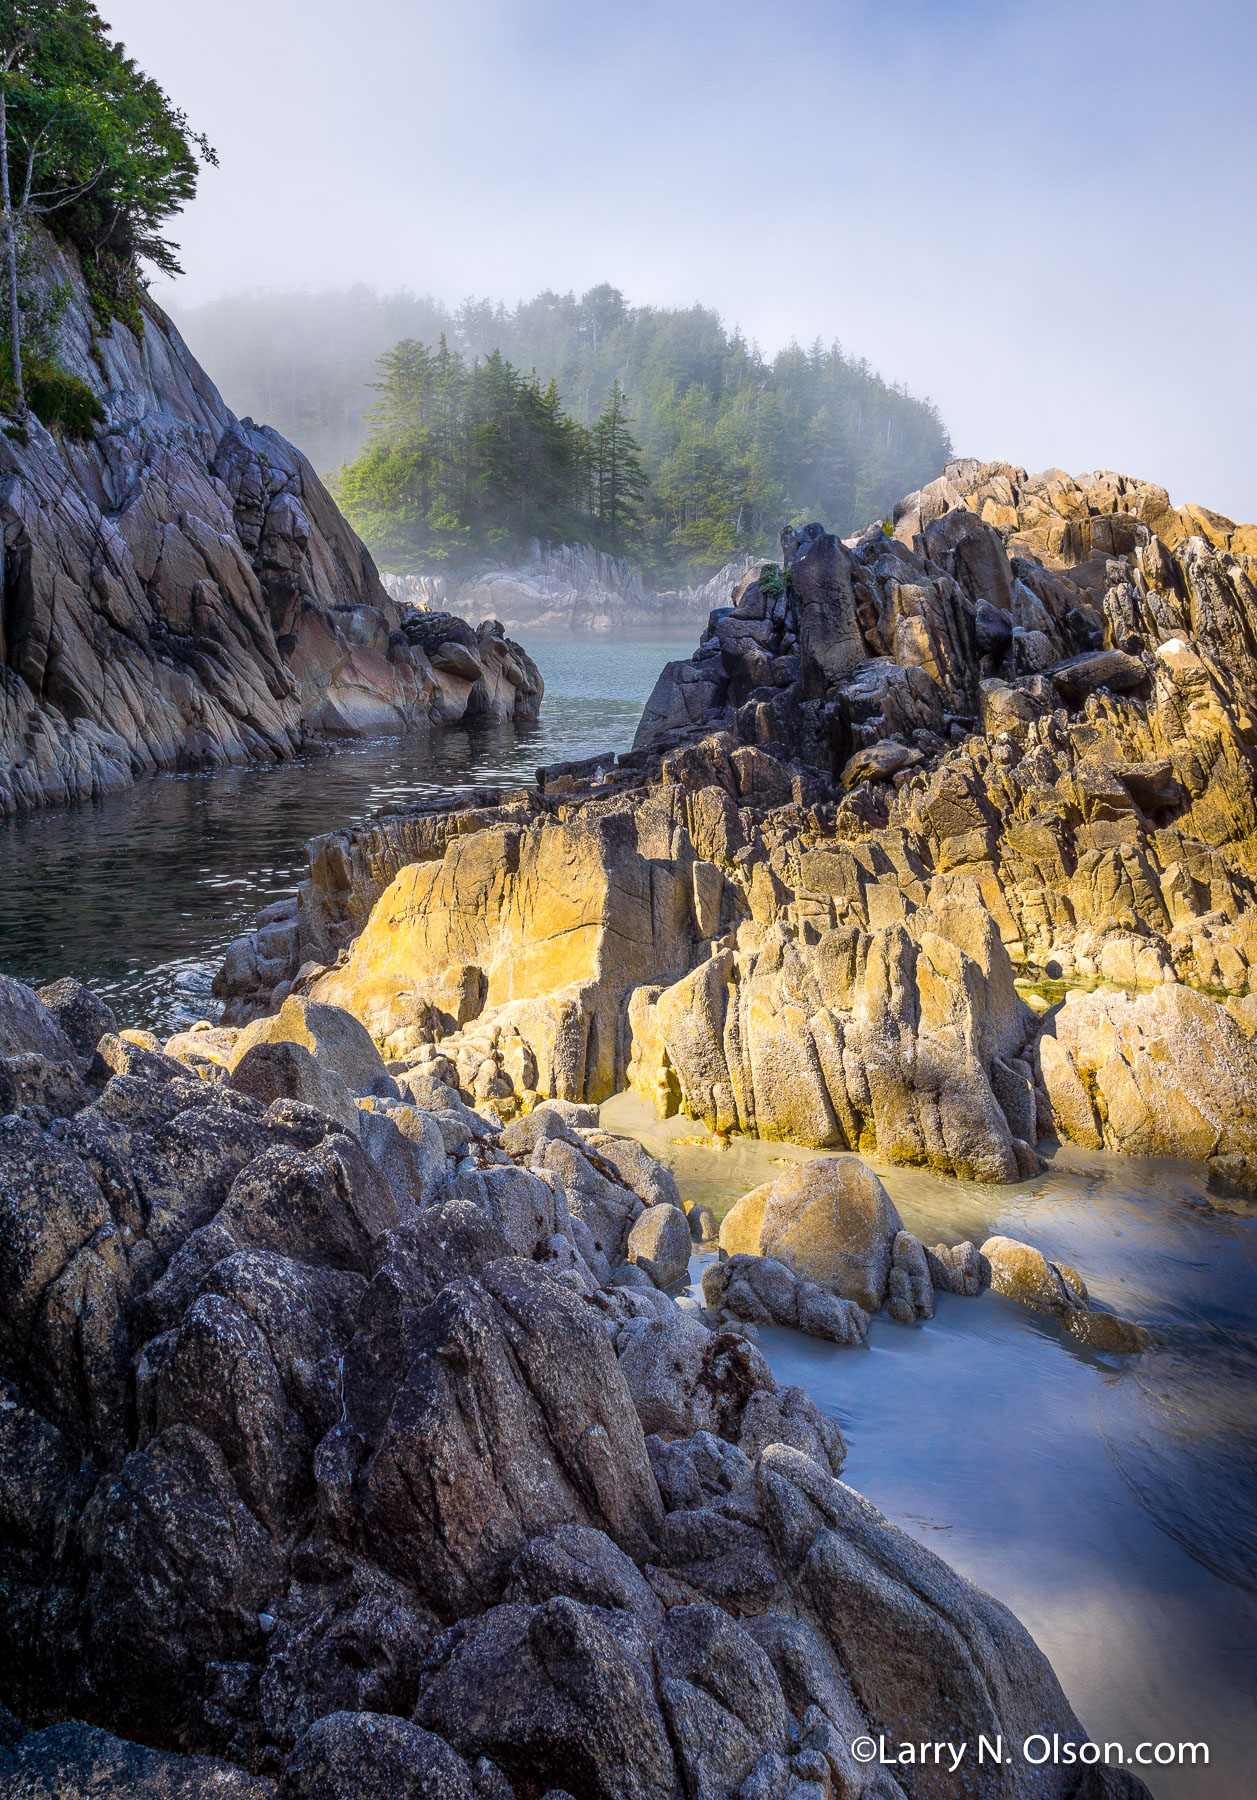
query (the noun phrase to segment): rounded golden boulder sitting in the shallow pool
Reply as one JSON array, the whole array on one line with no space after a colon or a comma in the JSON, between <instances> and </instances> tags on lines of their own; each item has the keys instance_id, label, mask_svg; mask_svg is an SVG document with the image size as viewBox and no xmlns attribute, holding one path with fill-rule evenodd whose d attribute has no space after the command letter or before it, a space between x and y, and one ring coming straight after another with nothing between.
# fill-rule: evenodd
<instances>
[{"instance_id":1,"label":"rounded golden boulder sitting in the shallow pool","mask_svg":"<svg viewBox=\"0 0 1257 1800\"><path fill-rule=\"evenodd\" d=\"M737 1255L753 1244L749 1255L879 1312L900 1229L890 1195L859 1157L818 1157L744 1193L720 1226L720 1247Z\"/></svg>"}]
</instances>

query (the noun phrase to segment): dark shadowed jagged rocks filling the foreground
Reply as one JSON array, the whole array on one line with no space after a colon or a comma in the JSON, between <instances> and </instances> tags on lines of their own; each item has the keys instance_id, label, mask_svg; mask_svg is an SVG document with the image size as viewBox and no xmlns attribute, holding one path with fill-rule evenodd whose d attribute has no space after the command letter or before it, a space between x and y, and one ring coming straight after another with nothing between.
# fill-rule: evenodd
<instances>
[{"instance_id":1,"label":"dark shadowed jagged rocks filling the foreground","mask_svg":"<svg viewBox=\"0 0 1257 1800\"><path fill-rule=\"evenodd\" d=\"M0 1024L59 1048L16 985ZM5 1793L895 1800L855 1737L1082 1741L746 1336L600 1274L645 1215L605 1134L409 1105L348 1022L292 1030L358 1132L117 1035L0 1120Z\"/></svg>"}]
</instances>

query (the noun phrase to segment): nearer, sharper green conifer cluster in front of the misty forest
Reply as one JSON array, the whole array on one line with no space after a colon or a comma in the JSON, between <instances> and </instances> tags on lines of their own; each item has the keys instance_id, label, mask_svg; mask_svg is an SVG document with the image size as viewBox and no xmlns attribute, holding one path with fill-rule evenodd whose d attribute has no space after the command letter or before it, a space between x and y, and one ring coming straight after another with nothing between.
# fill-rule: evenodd
<instances>
[{"instance_id":1,"label":"nearer, sharper green conifer cluster in front of the misty forest","mask_svg":"<svg viewBox=\"0 0 1257 1800\"><path fill-rule=\"evenodd\" d=\"M459 567L531 536L641 551L647 477L618 382L589 430L553 376L501 351L468 364L443 337L398 344L373 385L367 448L333 491L385 567Z\"/></svg>"}]
</instances>

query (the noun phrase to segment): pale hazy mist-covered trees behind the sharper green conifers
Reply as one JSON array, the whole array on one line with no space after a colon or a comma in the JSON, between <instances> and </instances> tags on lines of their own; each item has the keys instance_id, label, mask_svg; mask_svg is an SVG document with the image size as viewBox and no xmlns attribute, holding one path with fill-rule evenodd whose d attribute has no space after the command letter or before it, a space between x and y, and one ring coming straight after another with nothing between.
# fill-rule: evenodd
<instances>
[{"instance_id":1,"label":"pale hazy mist-covered trees behind the sharper green conifers","mask_svg":"<svg viewBox=\"0 0 1257 1800\"><path fill-rule=\"evenodd\" d=\"M445 338L445 353L459 358L468 380L477 358L486 367L499 353L515 380L535 396L551 392L569 425L585 434L596 436L618 383L641 461L639 518L625 533L610 526L607 508L594 508L594 529L583 535L609 547L630 544L661 580L769 551L787 520L859 529L931 481L951 455L929 401L884 382L837 344L792 344L767 358L711 308L630 306L607 284L580 299L538 293L515 308L492 301L445 308L362 286L243 293L176 317L229 405L276 425L328 473L353 463L367 441L367 410L378 398L369 383L398 373L387 362L376 367L378 358L396 356L405 340L436 356ZM504 380L501 371L493 380ZM376 459L380 482L400 475L396 463L382 461L389 436L396 446L396 418L382 432L382 414L375 414L364 461ZM349 470L342 495L385 565L396 560L400 515L385 529L385 509L373 504L364 524L366 497L351 497ZM412 504L398 499L402 509ZM589 520L589 506L587 482L576 481L562 504L547 490L511 511L499 484L492 506L477 502L474 517L459 515L457 531L470 526L470 535L450 527L443 542L430 538L434 560L450 565L450 558L486 554L483 542L506 551L528 517L529 536L569 536L558 518L574 511L574 529ZM402 536L414 542L412 533Z\"/></svg>"}]
</instances>

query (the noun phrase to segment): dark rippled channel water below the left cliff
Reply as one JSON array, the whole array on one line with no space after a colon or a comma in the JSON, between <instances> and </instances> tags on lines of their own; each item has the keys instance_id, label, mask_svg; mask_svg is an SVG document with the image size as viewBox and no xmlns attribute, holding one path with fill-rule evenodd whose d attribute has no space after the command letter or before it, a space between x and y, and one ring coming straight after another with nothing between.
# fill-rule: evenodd
<instances>
[{"instance_id":1,"label":"dark rippled channel water below the left cliff","mask_svg":"<svg viewBox=\"0 0 1257 1800\"><path fill-rule=\"evenodd\" d=\"M128 1026L169 1035L218 1015L232 938L292 893L303 844L373 812L468 787L520 787L542 763L628 749L645 697L690 639L538 639L538 720L421 727L283 767L158 776L85 806L0 821L0 970L72 974Z\"/></svg>"}]
</instances>

